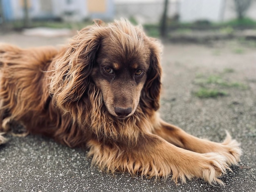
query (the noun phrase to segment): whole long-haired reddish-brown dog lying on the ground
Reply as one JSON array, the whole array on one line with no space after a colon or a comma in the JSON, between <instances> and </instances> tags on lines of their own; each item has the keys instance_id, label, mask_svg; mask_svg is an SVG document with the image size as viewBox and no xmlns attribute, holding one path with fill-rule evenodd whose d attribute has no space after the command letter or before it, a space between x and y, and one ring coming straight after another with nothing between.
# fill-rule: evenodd
<instances>
[{"instance_id":1,"label":"whole long-haired reddish-brown dog lying on the ground","mask_svg":"<svg viewBox=\"0 0 256 192\"><path fill-rule=\"evenodd\" d=\"M223 143L200 139L159 118L160 53L124 19L96 22L60 50L0 45L0 131L15 122L88 147L92 163L110 172L223 185L239 144L229 134Z\"/></svg>"}]
</instances>

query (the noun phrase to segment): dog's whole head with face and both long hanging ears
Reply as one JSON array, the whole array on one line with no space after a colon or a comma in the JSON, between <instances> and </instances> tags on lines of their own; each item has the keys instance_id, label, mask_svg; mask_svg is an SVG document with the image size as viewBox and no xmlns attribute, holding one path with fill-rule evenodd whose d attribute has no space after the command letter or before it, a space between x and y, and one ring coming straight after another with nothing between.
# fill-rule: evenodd
<instances>
[{"instance_id":1,"label":"dog's whole head with face and both long hanging ears","mask_svg":"<svg viewBox=\"0 0 256 192\"><path fill-rule=\"evenodd\" d=\"M123 19L109 25L97 22L79 31L70 45L56 61L60 82L51 82L54 98L66 110L75 106L67 103L84 102L90 83L100 89L113 116L131 116L138 105L145 112L159 108L160 48L140 27Z\"/></svg>"}]
</instances>

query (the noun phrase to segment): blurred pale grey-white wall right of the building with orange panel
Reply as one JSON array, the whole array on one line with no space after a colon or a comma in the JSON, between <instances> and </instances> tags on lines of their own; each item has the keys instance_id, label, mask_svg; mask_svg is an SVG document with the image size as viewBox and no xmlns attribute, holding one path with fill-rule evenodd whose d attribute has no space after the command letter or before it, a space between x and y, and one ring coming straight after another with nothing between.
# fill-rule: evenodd
<instances>
[{"instance_id":1,"label":"blurred pale grey-white wall right of the building with orange panel","mask_svg":"<svg viewBox=\"0 0 256 192\"><path fill-rule=\"evenodd\" d=\"M115 18L123 16L140 23L156 23L162 17L163 6L164 0L115 0ZM234 0L169 0L167 15L178 16L180 22L223 22L236 18L236 11ZM247 17L256 20L256 1L252 1Z\"/></svg>"}]
</instances>

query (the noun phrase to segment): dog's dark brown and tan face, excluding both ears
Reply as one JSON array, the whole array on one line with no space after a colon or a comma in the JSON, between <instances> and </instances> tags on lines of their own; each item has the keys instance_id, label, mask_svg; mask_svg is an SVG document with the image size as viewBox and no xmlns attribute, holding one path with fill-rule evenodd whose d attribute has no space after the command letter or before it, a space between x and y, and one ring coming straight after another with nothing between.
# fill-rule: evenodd
<instances>
[{"instance_id":1,"label":"dog's dark brown and tan face, excluding both ears","mask_svg":"<svg viewBox=\"0 0 256 192\"><path fill-rule=\"evenodd\" d=\"M120 42L105 38L97 53L92 79L103 94L113 116L131 116L138 104L150 65L150 50L144 41ZM126 42L124 45L124 42Z\"/></svg>"}]
</instances>

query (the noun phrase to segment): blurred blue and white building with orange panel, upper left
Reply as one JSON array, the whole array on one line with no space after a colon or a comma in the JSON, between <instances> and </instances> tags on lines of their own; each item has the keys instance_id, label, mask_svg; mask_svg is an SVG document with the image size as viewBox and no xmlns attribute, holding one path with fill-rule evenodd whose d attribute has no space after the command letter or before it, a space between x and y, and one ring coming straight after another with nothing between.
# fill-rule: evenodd
<instances>
[{"instance_id":1,"label":"blurred blue and white building with orange panel, upper left","mask_svg":"<svg viewBox=\"0 0 256 192\"><path fill-rule=\"evenodd\" d=\"M24 17L24 0L1 0L5 20ZM27 0L29 18L36 20L62 19L79 22L85 19L114 18L113 0Z\"/></svg>"}]
</instances>

